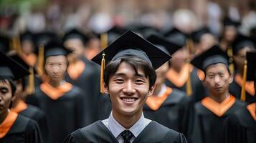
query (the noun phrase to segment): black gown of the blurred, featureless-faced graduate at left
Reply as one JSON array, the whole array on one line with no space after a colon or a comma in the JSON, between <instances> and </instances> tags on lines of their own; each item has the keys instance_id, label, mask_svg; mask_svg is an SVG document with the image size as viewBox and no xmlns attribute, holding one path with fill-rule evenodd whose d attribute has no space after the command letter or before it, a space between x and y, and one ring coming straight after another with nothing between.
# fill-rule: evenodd
<instances>
[{"instance_id":1,"label":"black gown of the blurred, featureless-faced graduate at left","mask_svg":"<svg viewBox=\"0 0 256 143\"><path fill-rule=\"evenodd\" d=\"M63 142L70 132L85 126L84 102L80 88L72 89L58 99L48 97L40 87L27 100L42 109L47 116L52 143Z\"/></svg>"}]
</instances>

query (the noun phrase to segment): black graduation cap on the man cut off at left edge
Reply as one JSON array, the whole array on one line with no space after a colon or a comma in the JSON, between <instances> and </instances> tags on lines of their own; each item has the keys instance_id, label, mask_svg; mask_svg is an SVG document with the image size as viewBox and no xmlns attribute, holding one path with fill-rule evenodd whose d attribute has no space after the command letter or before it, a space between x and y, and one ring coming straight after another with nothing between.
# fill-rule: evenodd
<instances>
[{"instance_id":1,"label":"black graduation cap on the man cut off at left edge","mask_svg":"<svg viewBox=\"0 0 256 143\"><path fill-rule=\"evenodd\" d=\"M21 64L0 51L0 77L20 79L29 75L29 71Z\"/></svg>"}]
</instances>

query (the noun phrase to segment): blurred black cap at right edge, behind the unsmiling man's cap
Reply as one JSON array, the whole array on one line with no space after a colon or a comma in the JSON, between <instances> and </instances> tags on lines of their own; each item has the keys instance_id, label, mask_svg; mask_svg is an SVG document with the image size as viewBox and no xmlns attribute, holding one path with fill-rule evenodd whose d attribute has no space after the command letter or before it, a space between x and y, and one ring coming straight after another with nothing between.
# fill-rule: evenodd
<instances>
[{"instance_id":1,"label":"blurred black cap at right edge, behind the unsmiling man's cap","mask_svg":"<svg viewBox=\"0 0 256 143\"><path fill-rule=\"evenodd\" d=\"M236 39L234 39L234 42L232 44L232 51L233 54L237 54L240 49L245 48L245 46L251 46L252 48L255 48L255 44L253 43L252 39L247 36L238 35Z\"/></svg>"}]
</instances>

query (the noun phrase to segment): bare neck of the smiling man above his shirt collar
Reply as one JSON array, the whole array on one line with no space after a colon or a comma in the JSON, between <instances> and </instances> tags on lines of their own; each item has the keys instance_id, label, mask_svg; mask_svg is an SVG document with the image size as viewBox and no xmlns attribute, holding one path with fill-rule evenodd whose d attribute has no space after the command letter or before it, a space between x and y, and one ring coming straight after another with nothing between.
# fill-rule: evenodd
<instances>
[{"instance_id":1,"label":"bare neck of the smiling man above his shirt collar","mask_svg":"<svg viewBox=\"0 0 256 143\"><path fill-rule=\"evenodd\" d=\"M122 125L125 129L130 129L133 124L136 124L138 120L141 118L142 110L138 114L133 115L123 115L113 112L113 118L116 122Z\"/></svg>"}]
</instances>

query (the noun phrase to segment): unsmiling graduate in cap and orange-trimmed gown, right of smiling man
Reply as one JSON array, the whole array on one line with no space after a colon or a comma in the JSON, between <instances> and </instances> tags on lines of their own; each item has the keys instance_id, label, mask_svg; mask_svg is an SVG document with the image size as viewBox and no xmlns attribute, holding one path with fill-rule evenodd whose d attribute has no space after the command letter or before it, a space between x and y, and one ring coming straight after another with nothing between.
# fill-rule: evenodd
<instances>
[{"instance_id":1,"label":"unsmiling graduate in cap and orange-trimmed gown, right of smiling man","mask_svg":"<svg viewBox=\"0 0 256 143\"><path fill-rule=\"evenodd\" d=\"M232 74L229 71L227 55L219 46L204 51L191 61L204 71L203 81L208 96L194 104L194 119L191 124L189 141L194 143L225 142L227 119L244 108L244 104L229 94Z\"/></svg>"}]
</instances>

